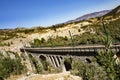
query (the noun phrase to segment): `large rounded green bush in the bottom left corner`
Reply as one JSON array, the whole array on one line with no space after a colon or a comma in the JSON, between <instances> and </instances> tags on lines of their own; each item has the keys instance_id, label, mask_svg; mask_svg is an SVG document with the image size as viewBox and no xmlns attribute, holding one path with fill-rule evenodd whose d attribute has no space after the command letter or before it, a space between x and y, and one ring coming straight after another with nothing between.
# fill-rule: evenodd
<instances>
[{"instance_id":1,"label":"large rounded green bush in the bottom left corner","mask_svg":"<svg viewBox=\"0 0 120 80\"><path fill-rule=\"evenodd\" d=\"M25 71L25 66L21 64L20 59L10 59L6 57L0 59L0 63L0 77L2 78L22 74Z\"/></svg>"}]
</instances>

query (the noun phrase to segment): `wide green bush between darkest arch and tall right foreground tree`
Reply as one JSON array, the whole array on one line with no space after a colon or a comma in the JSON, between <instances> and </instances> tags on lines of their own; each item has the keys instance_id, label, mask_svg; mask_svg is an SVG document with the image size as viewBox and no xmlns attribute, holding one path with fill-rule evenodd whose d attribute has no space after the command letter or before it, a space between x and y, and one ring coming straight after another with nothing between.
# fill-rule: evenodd
<instances>
[{"instance_id":1,"label":"wide green bush between darkest arch and tall right foreground tree","mask_svg":"<svg viewBox=\"0 0 120 80\"><path fill-rule=\"evenodd\" d=\"M76 59L73 59L71 73L82 77L83 80L108 80L104 69L97 64L88 64Z\"/></svg>"}]
</instances>

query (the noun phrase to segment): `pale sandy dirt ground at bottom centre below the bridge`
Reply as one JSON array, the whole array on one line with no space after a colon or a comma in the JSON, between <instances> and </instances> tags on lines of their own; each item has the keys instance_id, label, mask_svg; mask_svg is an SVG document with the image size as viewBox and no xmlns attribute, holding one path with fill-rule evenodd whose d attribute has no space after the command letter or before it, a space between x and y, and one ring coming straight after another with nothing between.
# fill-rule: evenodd
<instances>
[{"instance_id":1,"label":"pale sandy dirt ground at bottom centre below the bridge","mask_svg":"<svg viewBox=\"0 0 120 80\"><path fill-rule=\"evenodd\" d=\"M73 76L70 72L62 72L57 74L32 74L18 80L82 80L81 77Z\"/></svg>"}]
</instances>

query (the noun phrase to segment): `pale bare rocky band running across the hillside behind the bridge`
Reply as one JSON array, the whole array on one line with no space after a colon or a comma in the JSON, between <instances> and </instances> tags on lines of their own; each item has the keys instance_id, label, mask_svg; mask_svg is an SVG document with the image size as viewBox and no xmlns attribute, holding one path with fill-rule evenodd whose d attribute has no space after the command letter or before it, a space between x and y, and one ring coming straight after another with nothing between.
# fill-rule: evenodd
<instances>
[{"instance_id":1,"label":"pale bare rocky band running across the hillside behind the bridge","mask_svg":"<svg viewBox=\"0 0 120 80\"><path fill-rule=\"evenodd\" d=\"M41 39L48 39L50 37L55 38L56 36L61 36L61 37L65 37L67 36L68 38L70 38L70 34L69 31L71 32L72 36L74 35L81 35L83 33L85 33L87 30L83 30L81 27L82 26L86 26L86 25L90 25L91 23L88 21L83 21L80 22L78 24L69 24L65 27L62 28L57 28L56 31L51 30L51 29L46 29L46 32L43 33L32 33L32 34L21 34L19 33L19 35L25 37L14 37L8 40L4 40L3 43L8 43L8 42L13 42L12 45L10 46L1 46L0 49L1 50L10 50L10 51L18 51L21 47L23 47L23 45L27 45L29 46L29 42L34 40L35 38ZM79 32L78 29L80 29L81 31ZM90 29L91 33L94 33L94 31L92 30L92 28Z\"/></svg>"}]
</instances>

